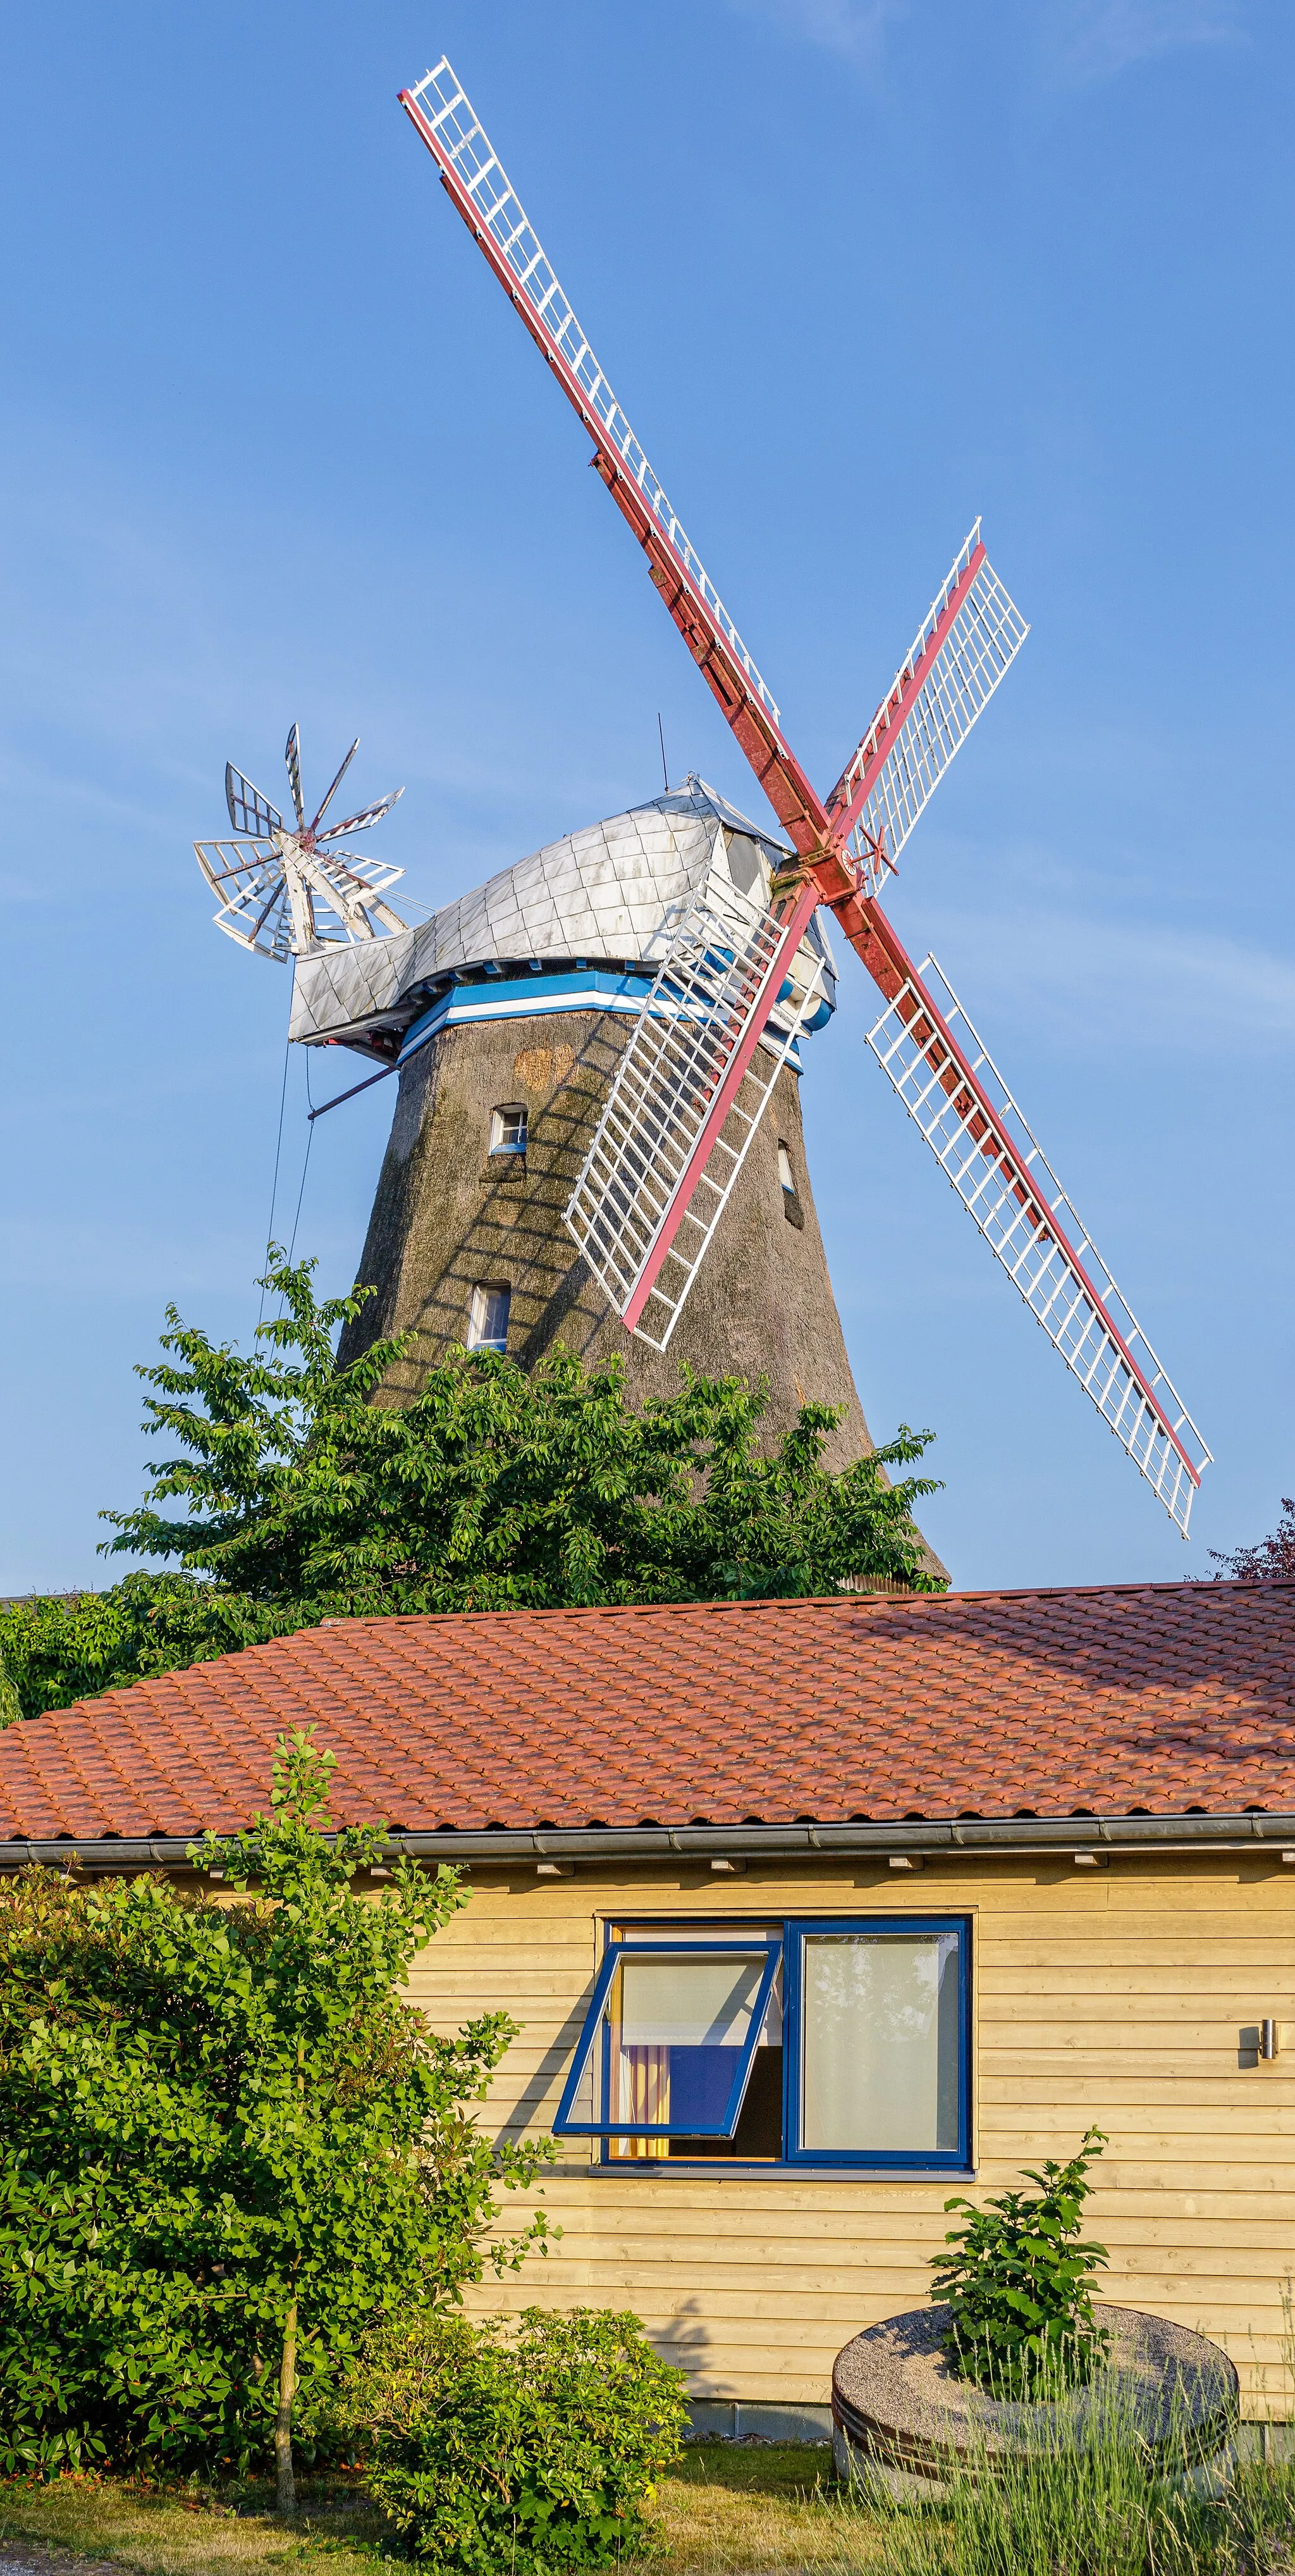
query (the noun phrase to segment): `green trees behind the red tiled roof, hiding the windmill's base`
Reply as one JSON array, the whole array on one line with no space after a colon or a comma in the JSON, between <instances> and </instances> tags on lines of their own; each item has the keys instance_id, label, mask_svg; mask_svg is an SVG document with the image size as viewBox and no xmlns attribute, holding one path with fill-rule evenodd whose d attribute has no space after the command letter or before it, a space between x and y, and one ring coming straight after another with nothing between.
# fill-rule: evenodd
<instances>
[{"instance_id":1,"label":"green trees behind the red tiled roof, hiding the windmill's base","mask_svg":"<svg viewBox=\"0 0 1295 2576\"><path fill-rule=\"evenodd\" d=\"M901 1425L829 1473L826 1404L806 1404L765 1455L759 1386L682 1370L677 1396L633 1409L618 1360L587 1370L561 1345L530 1376L453 1350L396 1406L381 1388L412 1337L337 1368L337 1327L371 1291L317 1303L312 1273L270 1267L283 1311L252 1355L167 1309L165 1358L139 1376L157 1388L147 1427L175 1455L139 1510L103 1517L108 1551L180 1571L126 1577L93 1613L0 1618L26 1713L85 1687L95 1620L90 1687L106 1690L319 1618L942 1589L911 1517L937 1486L888 1481L929 1432Z\"/></svg>"}]
</instances>

